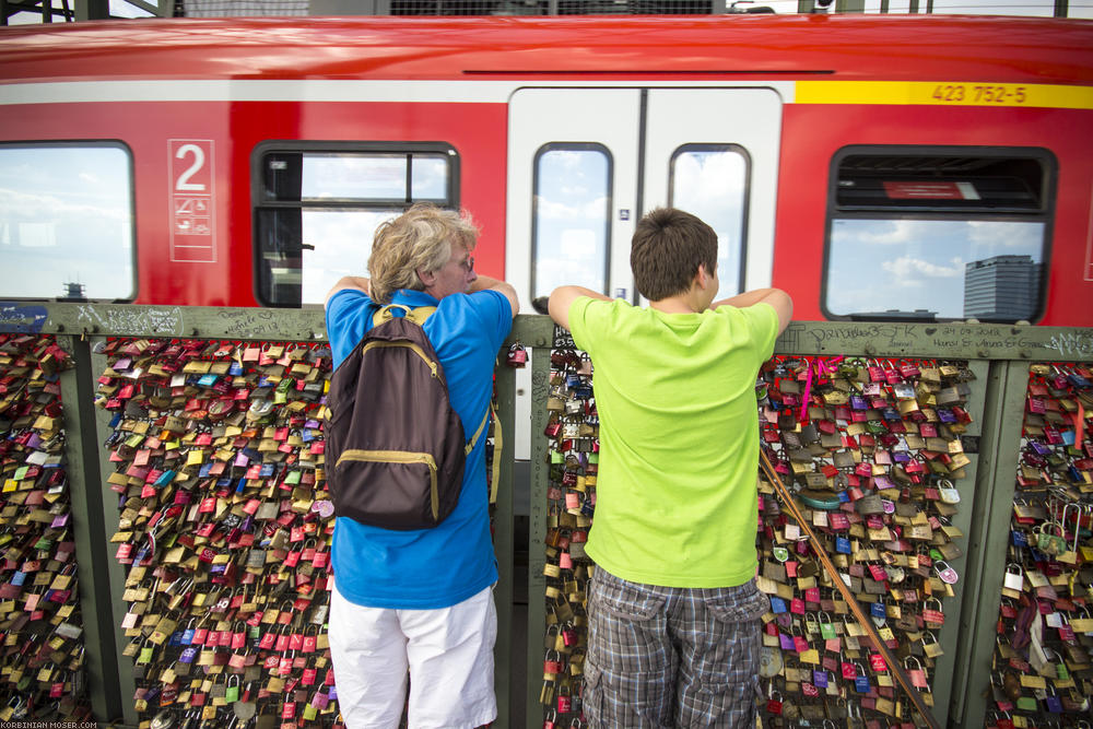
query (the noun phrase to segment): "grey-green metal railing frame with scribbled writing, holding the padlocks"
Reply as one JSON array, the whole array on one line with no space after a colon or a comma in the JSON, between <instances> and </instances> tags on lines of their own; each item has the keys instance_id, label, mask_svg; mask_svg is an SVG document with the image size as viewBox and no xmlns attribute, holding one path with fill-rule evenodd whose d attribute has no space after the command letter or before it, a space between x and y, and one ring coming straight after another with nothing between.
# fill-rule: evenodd
<instances>
[{"instance_id":1,"label":"grey-green metal railing frame with scribbled writing, holding the padlocks","mask_svg":"<svg viewBox=\"0 0 1093 729\"><path fill-rule=\"evenodd\" d=\"M136 725L132 707L134 681L130 659L121 656L128 644L118 627L125 615L121 566L108 550L118 528L118 509L106 479L113 472L103 444L110 436L109 413L94 407L96 378L106 358L94 345L113 337L209 339L249 342L314 343L324 339L322 314L316 309L261 309L105 304L7 304L0 306L0 331L55 337L70 352L74 367L60 375L64 402L67 460L72 493L72 525L77 542L78 579L84 620L85 666L89 695L98 720ZM548 532L550 465L545 408L550 392L550 353L555 330L546 317L519 316L509 342L529 349L531 367L532 434L530 479L514 482L512 438L506 438L502 481L495 515L495 548L501 571L498 605L497 693L501 717L496 726L539 727L542 686L542 639L545 607L543 567ZM507 346L507 343L506 343ZM1089 362L1093 360L1093 330L975 324L859 324L794 322L778 339L776 354L808 357L862 356L871 358L943 358L966 361L974 375L968 397L973 424L967 435L971 452L964 506L953 524L966 534L965 554L956 561L961 574L957 619L945 622L940 637L947 646L935 673L936 715L950 726L983 726L988 704L983 692L995 648L995 625L1003 580L1004 555L1015 494L1022 418L1030 364ZM2 375L3 373L0 373ZM515 432L516 385L514 371L497 371L497 392L503 432ZM521 648L510 644L514 631L514 580L524 552L517 530L514 494L529 492L527 530L526 668ZM522 591L522 590L520 590ZM525 626L520 626L525 627ZM521 670L522 669L522 670ZM524 673L526 671L526 673ZM513 677L526 675L525 684ZM522 701L514 702L517 693ZM512 706L510 706L512 705ZM521 716L522 714L522 716Z\"/></svg>"}]
</instances>

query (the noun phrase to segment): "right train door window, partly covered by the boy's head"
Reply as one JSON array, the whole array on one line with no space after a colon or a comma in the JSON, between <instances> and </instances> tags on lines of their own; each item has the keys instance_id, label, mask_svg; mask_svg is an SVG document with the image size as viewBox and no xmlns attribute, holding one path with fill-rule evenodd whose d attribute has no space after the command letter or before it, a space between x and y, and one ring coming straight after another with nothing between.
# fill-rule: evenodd
<instances>
[{"instance_id":1,"label":"right train door window, partly covered by the boy's head","mask_svg":"<svg viewBox=\"0 0 1093 729\"><path fill-rule=\"evenodd\" d=\"M734 144L684 144L672 154L668 204L717 233L717 298L743 291L748 153Z\"/></svg>"}]
</instances>

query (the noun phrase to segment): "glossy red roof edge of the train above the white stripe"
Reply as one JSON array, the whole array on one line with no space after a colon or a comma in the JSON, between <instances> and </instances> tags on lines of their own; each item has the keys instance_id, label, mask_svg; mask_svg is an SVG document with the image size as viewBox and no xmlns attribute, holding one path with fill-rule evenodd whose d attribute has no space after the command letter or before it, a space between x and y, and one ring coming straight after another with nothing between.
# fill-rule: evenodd
<instances>
[{"instance_id":1,"label":"glossy red roof edge of the train above the white stripe","mask_svg":"<svg viewBox=\"0 0 1093 729\"><path fill-rule=\"evenodd\" d=\"M1093 83L1093 21L953 15L308 17L0 30L0 82L947 79Z\"/></svg>"}]
</instances>

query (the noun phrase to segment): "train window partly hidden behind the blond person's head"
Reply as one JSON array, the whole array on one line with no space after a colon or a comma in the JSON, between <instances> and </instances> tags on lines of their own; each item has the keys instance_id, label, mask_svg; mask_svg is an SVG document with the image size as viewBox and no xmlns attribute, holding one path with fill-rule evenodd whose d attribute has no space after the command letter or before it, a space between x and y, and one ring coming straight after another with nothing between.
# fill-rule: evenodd
<instances>
[{"instance_id":1,"label":"train window partly hidden behind the blond person's head","mask_svg":"<svg viewBox=\"0 0 1093 729\"><path fill-rule=\"evenodd\" d=\"M447 144L271 142L255 151L258 299L322 304L343 275L367 271L381 223L415 202L457 208Z\"/></svg>"}]
</instances>

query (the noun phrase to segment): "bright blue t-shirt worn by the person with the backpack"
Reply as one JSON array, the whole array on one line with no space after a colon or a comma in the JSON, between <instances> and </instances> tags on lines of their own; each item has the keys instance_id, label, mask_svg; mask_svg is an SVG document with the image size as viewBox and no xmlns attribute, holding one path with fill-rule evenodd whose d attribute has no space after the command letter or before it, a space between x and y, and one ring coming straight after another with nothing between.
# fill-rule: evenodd
<instances>
[{"instance_id":1,"label":"bright blue t-shirt worn by the person with the backpack","mask_svg":"<svg viewBox=\"0 0 1093 729\"><path fill-rule=\"evenodd\" d=\"M513 326L508 299L496 291L453 294L437 302L420 291L399 290L393 304L436 306L425 336L436 350L451 407L468 438L482 423L493 396L493 369ZM327 303L327 337L338 367L372 328L379 308L364 292L346 289ZM338 591L368 608L448 608L497 580L490 538L485 438L467 457L456 509L431 529L396 531L334 519L331 564Z\"/></svg>"}]
</instances>

